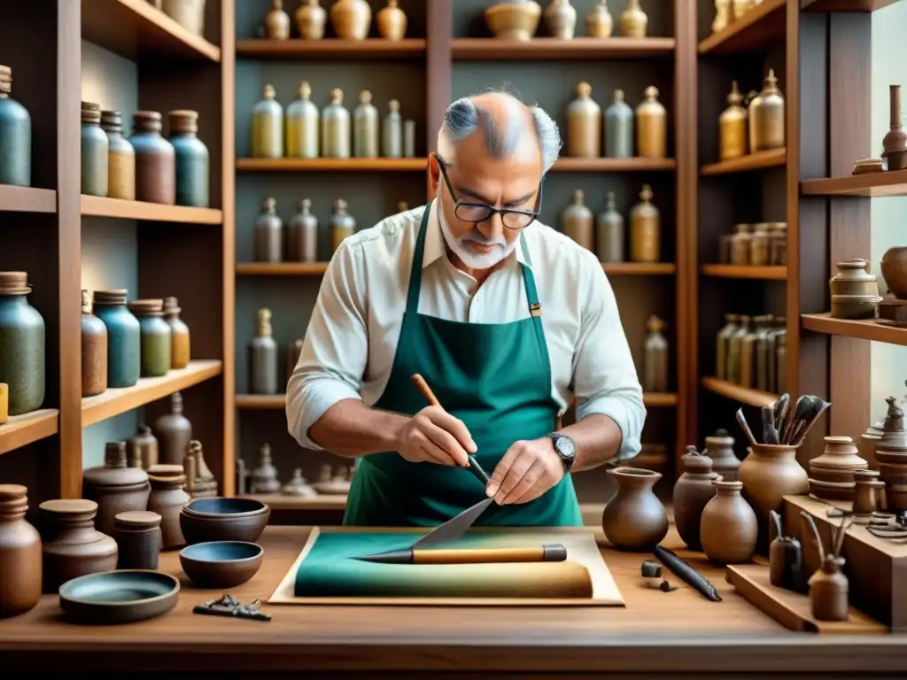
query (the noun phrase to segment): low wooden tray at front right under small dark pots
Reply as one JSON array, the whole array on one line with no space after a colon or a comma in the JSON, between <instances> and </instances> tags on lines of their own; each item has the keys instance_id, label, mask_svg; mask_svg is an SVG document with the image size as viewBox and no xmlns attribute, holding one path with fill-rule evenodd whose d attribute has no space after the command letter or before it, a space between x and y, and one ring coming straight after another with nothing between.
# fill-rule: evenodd
<instances>
[{"instance_id":1,"label":"low wooden tray at front right under small dark pots","mask_svg":"<svg viewBox=\"0 0 907 680\"><path fill-rule=\"evenodd\" d=\"M880 635L888 632L878 621L851 607L846 621L818 621L813 618L809 597L776 588L769 582L768 567L738 564L727 567L725 579L753 607L772 617L788 630L831 635Z\"/></svg>"}]
</instances>

